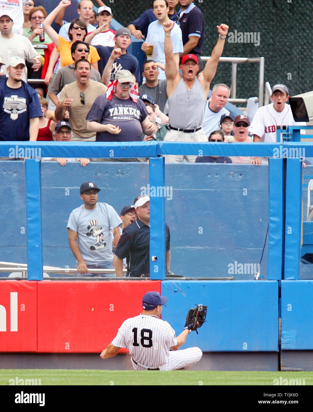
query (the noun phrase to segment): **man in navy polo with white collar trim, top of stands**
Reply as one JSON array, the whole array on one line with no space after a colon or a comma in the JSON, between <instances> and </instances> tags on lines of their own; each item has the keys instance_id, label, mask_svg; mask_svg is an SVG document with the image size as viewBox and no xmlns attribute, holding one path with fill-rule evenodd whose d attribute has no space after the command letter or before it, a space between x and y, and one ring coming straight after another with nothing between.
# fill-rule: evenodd
<instances>
[{"instance_id":1,"label":"man in navy polo with white collar trim, top of stands","mask_svg":"<svg viewBox=\"0 0 313 412\"><path fill-rule=\"evenodd\" d=\"M177 13L176 23L182 30L182 44L184 45L185 54L195 54L201 56L204 40L204 17L199 9L194 5L194 0L179 0L180 10ZM203 63L199 60L200 70L203 70Z\"/></svg>"}]
</instances>

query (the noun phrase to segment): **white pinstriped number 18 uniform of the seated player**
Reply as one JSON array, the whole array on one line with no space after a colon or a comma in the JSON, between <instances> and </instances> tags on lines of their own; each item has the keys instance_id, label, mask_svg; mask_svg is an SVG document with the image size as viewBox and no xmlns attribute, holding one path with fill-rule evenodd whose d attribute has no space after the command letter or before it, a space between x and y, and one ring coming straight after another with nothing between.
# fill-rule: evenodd
<instances>
[{"instance_id":1,"label":"white pinstriped number 18 uniform of the seated player","mask_svg":"<svg viewBox=\"0 0 313 412\"><path fill-rule=\"evenodd\" d=\"M170 352L170 348L177 345L175 330L154 315L140 314L126 319L112 344L129 350L137 370L189 368L202 356L199 348Z\"/></svg>"}]
</instances>

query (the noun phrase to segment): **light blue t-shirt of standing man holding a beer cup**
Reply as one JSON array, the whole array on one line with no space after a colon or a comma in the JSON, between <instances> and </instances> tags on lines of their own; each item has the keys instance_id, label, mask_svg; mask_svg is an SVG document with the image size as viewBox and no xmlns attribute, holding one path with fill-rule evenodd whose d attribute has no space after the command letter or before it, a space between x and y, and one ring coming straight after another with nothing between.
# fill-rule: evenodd
<instances>
[{"instance_id":1,"label":"light blue t-shirt of standing man holding a beer cup","mask_svg":"<svg viewBox=\"0 0 313 412\"><path fill-rule=\"evenodd\" d=\"M171 31L171 38L173 53L183 53L184 46L182 44L182 30L180 30L177 24L174 25ZM164 39L165 34L163 24L159 24L158 20L152 21L152 23L149 24L148 34L145 41L147 43L154 43L152 59L163 64L165 64ZM166 79L164 70L159 68L159 72L159 79Z\"/></svg>"}]
</instances>

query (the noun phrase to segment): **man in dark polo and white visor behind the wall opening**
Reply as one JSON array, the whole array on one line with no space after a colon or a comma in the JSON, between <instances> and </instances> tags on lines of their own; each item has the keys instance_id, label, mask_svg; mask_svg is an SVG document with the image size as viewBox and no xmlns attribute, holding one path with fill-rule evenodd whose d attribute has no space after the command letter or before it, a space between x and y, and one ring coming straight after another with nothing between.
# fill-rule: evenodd
<instances>
[{"instance_id":1,"label":"man in dark polo and white visor behind the wall opening","mask_svg":"<svg viewBox=\"0 0 313 412\"><path fill-rule=\"evenodd\" d=\"M127 258L126 276L140 277L150 273L150 198L139 197L134 204L136 220L123 229L123 233L114 252L116 275L123 276L123 259ZM170 230L166 225L166 272L170 270Z\"/></svg>"}]
</instances>

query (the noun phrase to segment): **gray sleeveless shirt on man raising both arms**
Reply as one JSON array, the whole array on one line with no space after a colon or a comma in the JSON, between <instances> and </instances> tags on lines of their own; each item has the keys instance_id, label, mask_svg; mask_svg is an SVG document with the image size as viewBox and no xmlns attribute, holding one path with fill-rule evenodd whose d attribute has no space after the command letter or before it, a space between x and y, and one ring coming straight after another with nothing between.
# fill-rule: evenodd
<instances>
[{"instance_id":1,"label":"gray sleeveless shirt on man raising both arms","mask_svg":"<svg viewBox=\"0 0 313 412\"><path fill-rule=\"evenodd\" d=\"M206 96L198 77L191 90L187 89L184 79L181 78L168 99L170 125L179 129L196 129L202 126L206 103Z\"/></svg>"}]
</instances>

